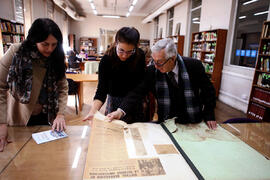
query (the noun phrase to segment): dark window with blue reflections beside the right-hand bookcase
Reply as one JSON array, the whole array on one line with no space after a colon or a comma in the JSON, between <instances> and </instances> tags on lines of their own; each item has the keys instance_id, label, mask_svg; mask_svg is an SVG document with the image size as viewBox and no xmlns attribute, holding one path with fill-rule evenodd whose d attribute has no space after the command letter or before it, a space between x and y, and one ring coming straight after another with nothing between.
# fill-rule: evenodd
<instances>
[{"instance_id":1,"label":"dark window with blue reflections beside the right-hand bookcase","mask_svg":"<svg viewBox=\"0 0 270 180\"><path fill-rule=\"evenodd\" d=\"M262 24L268 13L269 0L238 1L231 64L255 67Z\"/></svg>"}]
</instances>

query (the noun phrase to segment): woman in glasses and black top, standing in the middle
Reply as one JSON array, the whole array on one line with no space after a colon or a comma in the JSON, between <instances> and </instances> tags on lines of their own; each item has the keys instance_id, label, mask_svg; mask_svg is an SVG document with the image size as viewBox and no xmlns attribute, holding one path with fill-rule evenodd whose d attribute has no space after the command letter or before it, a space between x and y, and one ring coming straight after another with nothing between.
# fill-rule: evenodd
<instances>
[{"instance_id":1,"label":"woman in glasses and black top, standing in the middle","mask_svg":"<svg viewBox=\"0 0 270 180\"><path fill-rule=\"evenodd\" d=\"M143 79L145 73L144 52L138 48L140 34L133 27L123 27L117 31L114 44L101 59L98 71L98 86L91 110L85 120L92 120L107 99L105 114L113 112L128 92L132 91ZM143 121L142 103L134 108L123 120ZM91 124L91 121L90 121Z\"/></svg>"}]
</instances>

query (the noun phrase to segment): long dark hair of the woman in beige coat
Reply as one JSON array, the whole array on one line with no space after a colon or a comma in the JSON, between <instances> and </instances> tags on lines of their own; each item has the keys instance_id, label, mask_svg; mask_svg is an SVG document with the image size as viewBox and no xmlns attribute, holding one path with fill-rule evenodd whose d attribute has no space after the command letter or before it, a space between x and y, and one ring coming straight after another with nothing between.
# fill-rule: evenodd
<instances>
[{"instance_id":1,"label":"long dark hair of the woman in beige coat","mask_svg":"<svg viewBox=\"0 0 270 180\"><path fill-rule=\"evenodd\" d=\"M51 19L36 19L28 31L26 40L23 41L18 53L27 56L27 53L36 51L36 43L45 41L49 35L53 35L57 39L57 46L50 55L48 62L52 63L51 67L56 75L56 80L60 80L65 76L65 54L62 47L63 36L58 25Z\"/></svg>"}]
</instances>

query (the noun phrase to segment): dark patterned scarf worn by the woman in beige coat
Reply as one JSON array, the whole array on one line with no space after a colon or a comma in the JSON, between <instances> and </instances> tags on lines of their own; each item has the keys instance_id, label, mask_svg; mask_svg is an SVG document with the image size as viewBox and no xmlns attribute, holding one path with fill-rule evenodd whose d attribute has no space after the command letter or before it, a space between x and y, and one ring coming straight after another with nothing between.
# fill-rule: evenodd
<instances>
[{"instance_id":1,"label":"dark patterned scarf worn by the woman in beige coat","mask_svg":"<svg viewBox=\"0 0 270 180\"><path fill-rule=\"evenodd\" d=\"M48 60L44 60L38 51L31 51L25 56L16 53L9 68L7 83L11 95L20 103L28 104L33 81L32 62L44 64L47 72L41 87L39 103L42 104L42 112L48 115L48 122L51 124L59 110L59 94L52 63L48 63Z\"/></svg>"}]
</instances>

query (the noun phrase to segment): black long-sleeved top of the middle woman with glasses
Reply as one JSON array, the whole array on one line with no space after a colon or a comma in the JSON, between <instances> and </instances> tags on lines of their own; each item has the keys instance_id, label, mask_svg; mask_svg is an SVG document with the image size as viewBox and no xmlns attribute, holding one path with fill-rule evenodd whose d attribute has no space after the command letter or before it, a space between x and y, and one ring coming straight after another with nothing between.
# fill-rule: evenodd
<instances>
[{"instance_id":1,"label":"black long-sleeved top of the middle woman with glasses","mask_svg":"<svg viewBox=\"0 0 270 180\"><path fill-rule=\"evenodd\" d=\"M135 62L135 57L138 61ZM94 99L103 103L107 94L114 97L124 97L137 87L145 75L145 56L141 49L121 61L117 55L104 55L98 68L98 86Z\"/></svg>"}]
</instances>

